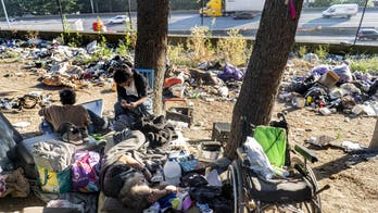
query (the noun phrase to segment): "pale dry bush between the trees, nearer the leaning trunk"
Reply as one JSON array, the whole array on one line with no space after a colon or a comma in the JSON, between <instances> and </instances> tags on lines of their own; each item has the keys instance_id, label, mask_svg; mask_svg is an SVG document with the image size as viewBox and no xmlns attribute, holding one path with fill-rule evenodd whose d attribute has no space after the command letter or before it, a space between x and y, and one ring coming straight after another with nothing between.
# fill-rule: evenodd
<instances>
[{"instance_id":1,"label":"pale dry bush between the trees, nearer the leaning trunk","mask_svg":"<svg viewBox=\"0 0 378 213\"><path fill-rule=\"evenodd\" d=\"M228 38L222 38L216 46L217 58L234 65L244 65L249 57L247 40L239 34L239 29L227 32Z\"/></svg>"}]
</instances>

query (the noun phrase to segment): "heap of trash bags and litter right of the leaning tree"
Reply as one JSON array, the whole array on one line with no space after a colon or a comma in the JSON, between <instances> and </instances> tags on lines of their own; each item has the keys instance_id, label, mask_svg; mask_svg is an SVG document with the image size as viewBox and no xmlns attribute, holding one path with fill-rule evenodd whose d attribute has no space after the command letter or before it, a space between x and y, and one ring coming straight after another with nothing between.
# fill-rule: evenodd
<instances>
[{"instance_id":1,"label":"heap of trash bags and litter right of the leaning tree","mask_svg":"<svg viewBox=\"0 0 378 213\"><path fill-rule=\"evenodd\" d=\"M289 62L290 64L290 62ZM294 67L288 66L287 73ZM351 72L350 62L320 64L302 75L286 75L278 98L293 108L317 110L323 115L378 115L378 73Z\"/></svg>"}]
</instances>

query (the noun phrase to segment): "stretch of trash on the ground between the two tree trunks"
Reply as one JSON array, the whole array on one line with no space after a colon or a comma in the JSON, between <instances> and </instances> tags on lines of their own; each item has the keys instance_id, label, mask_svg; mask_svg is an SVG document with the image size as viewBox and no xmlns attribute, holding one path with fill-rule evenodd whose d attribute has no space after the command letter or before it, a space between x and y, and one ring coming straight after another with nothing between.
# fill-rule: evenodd
<instances>
[{"instance_id":1,"label":"stretch of trash on the ground between the two tree trunks","mask_svg":"<svg viewBox=\"0 0 378 213\"><path fill-rule=\"evenodd\" d=\"M198 68L172 66L164 83L163 96L169 98L202 99L206 102L232 101L239 96L245 68L230 63L199 64Z\"/></svg>"}]
</instances>

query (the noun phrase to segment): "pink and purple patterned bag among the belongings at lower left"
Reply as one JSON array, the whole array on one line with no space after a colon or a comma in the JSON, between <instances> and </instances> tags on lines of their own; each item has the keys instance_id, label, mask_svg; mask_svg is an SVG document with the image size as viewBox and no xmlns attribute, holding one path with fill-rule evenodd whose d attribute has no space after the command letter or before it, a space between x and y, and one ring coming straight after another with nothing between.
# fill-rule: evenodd
<instances>
[{"instance_id":1,"label":"pink and purple patterned bag among the belongings at lower left","mask_svg":"<svg viewBox=\"0 0 378 213\"><path fill-rule=\"evenodd\" d=\"M72 165L72 187L75 191L99 191L100 154L91 151L78 151Z\"/></svg>"}]
</instances>

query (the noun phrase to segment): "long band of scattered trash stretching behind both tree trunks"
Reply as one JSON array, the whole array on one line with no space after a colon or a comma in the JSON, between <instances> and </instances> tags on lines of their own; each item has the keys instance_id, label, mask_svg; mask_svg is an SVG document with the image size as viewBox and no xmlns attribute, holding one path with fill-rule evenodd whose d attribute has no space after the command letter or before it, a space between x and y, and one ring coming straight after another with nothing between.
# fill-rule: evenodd
<instances>
[{"instance_id":1,"label":"long band of scattered trash stretching behind both tree trunks","mask_svg":"<svg viewBox=\"0 0 378 213\"><path fill-rule=\"evenodd\" d=\"M28 68L41 75L45 85L79 89L111 85L114 66L119 63L133 65L129 57L119 57L115 51L108 57L98 57L97 52L102 51L101 48L102 45L98 45L96 40L86 48L72 48L63 46L60 39L14 39L2 40L0 55L30 60ZM303 60L312 65L320 62L314 53L304 55ZM303 75L297 75L297 67L292 67L289 60L278 98L291 102L295 108L316 109L324 115L343 112L376 116L377 71L352 73L350 61L341 55L328 55L324 62L327 64L319 64ZM244 72L245 68L238 68L227 62L225 65L219 62L203 62L197 68L167 64L163 96L165 99L191 98L207 102L236 102ZM9 108L9 104L2 105Z\"/></svg>"}]
</instances>

